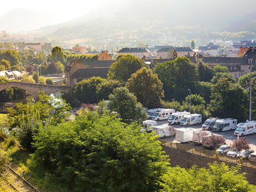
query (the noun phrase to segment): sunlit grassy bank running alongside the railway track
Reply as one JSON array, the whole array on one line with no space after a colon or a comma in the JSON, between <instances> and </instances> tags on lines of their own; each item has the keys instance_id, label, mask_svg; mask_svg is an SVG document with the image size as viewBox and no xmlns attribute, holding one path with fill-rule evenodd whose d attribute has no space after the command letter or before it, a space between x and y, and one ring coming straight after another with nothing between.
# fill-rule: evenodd
<instances>
[{"instance_id":1,"label":"sunlit grassy bank running alongside the railway track","mask_svg":"<svg viewBox=\"0 0 256 192\"><path fill-rule=\"evenodd\" d=\"M40 165L35 165L31 154L24 150L13 136L8 136L0 143L0 154L6 156L9 164L11 164L17 173L22 175L38 190L46 192L68 192L67 189L62 188L56 178L46 173Z\"/></svg>"}]
</instances>

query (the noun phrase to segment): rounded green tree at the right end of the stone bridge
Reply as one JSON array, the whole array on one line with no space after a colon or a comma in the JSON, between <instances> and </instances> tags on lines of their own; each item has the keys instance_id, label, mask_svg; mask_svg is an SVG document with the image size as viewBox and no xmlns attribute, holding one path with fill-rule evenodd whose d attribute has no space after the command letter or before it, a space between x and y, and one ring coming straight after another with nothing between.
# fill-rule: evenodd
<instances>
[{"instance_id":1,"label":"rounded green tree at the right end of the stone bridge","mask_svg":"<svg viewBox=\"0 0 256 192\"><path fill-rule=\"evenodd\" d=\"M97 87L106 82L106 79L101 77L91 77L87 80L78 82L73 91L74 96L81 102L87 104L95 104L99 101L97 98Z\"/></svg>"}]
</instances>

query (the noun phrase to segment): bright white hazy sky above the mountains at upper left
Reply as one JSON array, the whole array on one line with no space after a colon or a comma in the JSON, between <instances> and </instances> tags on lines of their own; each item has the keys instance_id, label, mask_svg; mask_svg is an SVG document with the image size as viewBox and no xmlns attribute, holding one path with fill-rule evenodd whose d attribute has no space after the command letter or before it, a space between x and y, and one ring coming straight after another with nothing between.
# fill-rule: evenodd
<instances>
[{"instance_id":1,"label":"bright white hazy sky above the mountains at upper left","mask_svg":"<svg viewBox=\"0 0 256 192\"><path fill-rule=\"evenodd\" d=\"M0 17L14 8L34 9L37 11L51 12L59 22L69 21L85 15L92 8L99 6L104 0L8 0L1 1ZM56 19L55 19L56 20Z\"/></svg>"}]
</instances>

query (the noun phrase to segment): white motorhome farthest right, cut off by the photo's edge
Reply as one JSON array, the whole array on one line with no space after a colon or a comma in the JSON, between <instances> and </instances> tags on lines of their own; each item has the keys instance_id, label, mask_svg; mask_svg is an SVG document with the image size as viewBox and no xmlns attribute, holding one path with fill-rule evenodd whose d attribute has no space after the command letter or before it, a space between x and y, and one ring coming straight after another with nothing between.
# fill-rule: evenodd
<instances>
[{"instance_id":1,"label":"white motorhome farthest right, cut off by the photo's edge","mask_svg":"<svg viewBox=\"0 0 256 192\"><path fill-rule=\"evenodd\" d=\"M256 134L256 121L240 122L234 132L235 136L244 136L249 134Z\"/></svg>"}]
</instances>

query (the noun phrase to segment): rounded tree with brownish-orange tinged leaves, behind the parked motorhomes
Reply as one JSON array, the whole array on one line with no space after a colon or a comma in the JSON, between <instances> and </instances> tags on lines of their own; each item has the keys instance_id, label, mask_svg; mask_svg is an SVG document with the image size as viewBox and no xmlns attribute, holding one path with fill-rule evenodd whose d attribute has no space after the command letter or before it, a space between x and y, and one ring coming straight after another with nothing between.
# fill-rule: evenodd
<instances>
[{"instance_id":1,"label":"rounded tree with brownish-orange tinged leaves, behind the parked motorhomes","mask_svg":"<svg viewBox=\"0 0 256 192\"><path fill-rule=\"evenodd\" d=\"M152 70L146 67L133 73L126 87L134 93L137 101L149 108L159 107L161 97L164 96L163 83Z\"/></svg>"}]
</instances>

